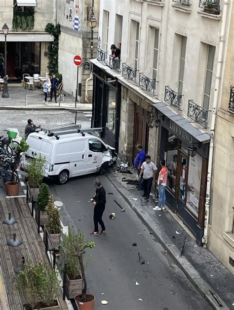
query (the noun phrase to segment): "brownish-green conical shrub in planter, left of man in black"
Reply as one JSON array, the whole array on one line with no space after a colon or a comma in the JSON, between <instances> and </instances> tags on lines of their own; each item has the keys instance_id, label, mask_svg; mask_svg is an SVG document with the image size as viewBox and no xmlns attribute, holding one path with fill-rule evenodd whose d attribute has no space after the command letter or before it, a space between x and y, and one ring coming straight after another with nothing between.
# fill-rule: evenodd
<instances>
[{"instance_id":1,"label":"brownish-green conical shrub in planter, left of man in black","mask_svg":"<svg viewBox=\"0 0 234 310\"><path fill-rule=\"evenodd\" d=\"M52 248L58 250L61 238L61 232L63 228L61 225L61 217L59 209L55 208L54 206L53 195L49 196L49 202L48 205L46 206L46 212L48 215L48 219L44 229L44 236L45 238L47 238L48 243L52 243L51 245Z\"/></svg>"}]
</instances>

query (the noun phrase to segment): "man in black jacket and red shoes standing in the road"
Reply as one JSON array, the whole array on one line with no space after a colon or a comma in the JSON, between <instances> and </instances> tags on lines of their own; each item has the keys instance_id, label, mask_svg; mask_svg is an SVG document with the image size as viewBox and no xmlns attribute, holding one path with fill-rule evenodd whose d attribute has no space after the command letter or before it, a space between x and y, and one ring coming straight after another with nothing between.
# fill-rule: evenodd
<instances>
[{"instance_id":1,"label":"man in black jacket and red shoes standing in the road","mask_svg":"<svg viewBox=\"0 0 234 310\"><path fill-rule=\"evenodd\" d=\"M99 179L94 181L94 185L96 187L96 195L91 199L91 202L94 206L94 214L93 214L93 221L94 221L94 231L90 233L91 236L99 235L98 231L98 223L101 225L102 230L100 235L104 235L106 227L102 220L102 215L105 210L106 205L106 191L102 186Z\"/></svg>"}]
</instances>

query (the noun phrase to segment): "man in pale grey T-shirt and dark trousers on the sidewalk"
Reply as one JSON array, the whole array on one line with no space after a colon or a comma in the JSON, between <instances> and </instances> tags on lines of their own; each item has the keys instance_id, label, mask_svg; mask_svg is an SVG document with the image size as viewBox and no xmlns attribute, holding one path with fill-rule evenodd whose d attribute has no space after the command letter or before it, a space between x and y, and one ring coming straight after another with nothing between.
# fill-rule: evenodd
<instances>
[{"instance_id":1,"label":"man in pale grey T-shirt and dark trousers on the sidewalk","mask_svg":"<svg viewBox=\"0 0 234 310\"><path fill-rule=\"evenodd\" d=\"M143 174L143 188L144 194L142 197L145 197L146 201L150 199L150 191L153 182L153 178L155 177L157 172L156 165L151 161L151 157L149 155L146 156L146 161L141 165L141 172L139 177Z\"/></svg>"}]
</instances>

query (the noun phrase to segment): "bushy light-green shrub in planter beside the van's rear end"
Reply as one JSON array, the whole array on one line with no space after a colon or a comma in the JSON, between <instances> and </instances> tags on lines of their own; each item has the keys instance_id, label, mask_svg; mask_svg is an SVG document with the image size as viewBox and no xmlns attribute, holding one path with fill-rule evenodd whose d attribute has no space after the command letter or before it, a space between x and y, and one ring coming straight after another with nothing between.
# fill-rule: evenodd
<instances>
[{"instance_id":1,"label":"bushy light-green shrub in planter beside the van's rear end","mask_svg":"<svg viewBox=\"0 0 234 310\"><path fill-rule=\"evenodd\" d=\"M29 158L27 165L27 180L34 201L37 201L39 185L44 177L45 164L46 160L42 156L39 156L38 158Z\"/></svg>"}]
</instances>

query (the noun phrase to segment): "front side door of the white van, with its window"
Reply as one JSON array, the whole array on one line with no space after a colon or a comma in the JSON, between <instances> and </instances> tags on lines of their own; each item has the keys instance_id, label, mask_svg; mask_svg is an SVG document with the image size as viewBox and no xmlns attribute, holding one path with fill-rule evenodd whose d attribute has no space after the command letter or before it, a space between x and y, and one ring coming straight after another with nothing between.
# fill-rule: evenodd
<instances>
[{"instance_id":1,"label":"front side door of the white van, with its window","mask_svg":"<svg viewBox=\"0 0 234 310\"><path fill-rule=\"evenodd\" d=\"M96 172L102 165L103 152L107 150L106 146L98 139L88 139L88 170L89 173Z\"/></svg>"}]
</instances>

